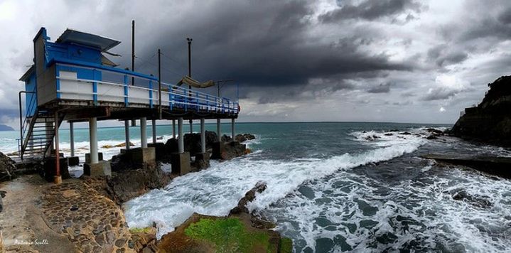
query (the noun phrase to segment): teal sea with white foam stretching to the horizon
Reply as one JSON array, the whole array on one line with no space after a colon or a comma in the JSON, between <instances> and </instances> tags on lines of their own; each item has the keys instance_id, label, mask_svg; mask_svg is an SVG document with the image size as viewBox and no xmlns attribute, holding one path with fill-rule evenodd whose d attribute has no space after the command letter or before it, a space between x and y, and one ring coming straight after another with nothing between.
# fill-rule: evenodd
<instances>
[{"instance_id":1,"label":"teal sea with white foam stretching to the horizon","mask_svg":"<svg viewBox=\"0 0 511 253\"><path fill-rule=\"evenodd\" d=\"M511 156L511 151L449 136L426 139L431 127L451 126L237 123L237 133L256 136L247 141L251 154L211 161L206 170L124 203L127 223L156 224L161 237L193 212L227 215L244 193L264 182L267 190L248 208L293 239L295 252L509 252L511 182L421 155ZM206 129L215 131L216 124ZM230 125L222 130L230 134ZM130 132L138 146L139 128ZM158 125L156 132L158 141L172 136L169 125ZM0 132L0 151L17 151L16 138L16 131ZM110 158L119 153L112 146L124 142L124 127L100 128L98 139L104 158ZM60 130L60 140L69 155L67 129ZM87 129L75 129L75 142L83 161Z\"/></svg>"}]
</instances>

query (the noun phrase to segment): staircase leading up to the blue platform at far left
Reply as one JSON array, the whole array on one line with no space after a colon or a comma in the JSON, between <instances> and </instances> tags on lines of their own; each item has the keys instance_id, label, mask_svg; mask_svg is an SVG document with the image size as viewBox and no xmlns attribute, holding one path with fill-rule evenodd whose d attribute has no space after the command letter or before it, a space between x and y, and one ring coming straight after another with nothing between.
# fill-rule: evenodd
<instances>
[{"instance_id":1,"label":"staircase leading up to the blue platform at far left","mask_svg":"<svg viewBox=\"0 0 511 253\"><path fill-rule=\"evenodd\" d=\"M44 158L53 144L55 124L60 126L63 119L64 115L60 114L58 122L55 122L55 114L38 109L32 116L26 117L18 147L20 158Z\"/></svg>"}]
</instances>

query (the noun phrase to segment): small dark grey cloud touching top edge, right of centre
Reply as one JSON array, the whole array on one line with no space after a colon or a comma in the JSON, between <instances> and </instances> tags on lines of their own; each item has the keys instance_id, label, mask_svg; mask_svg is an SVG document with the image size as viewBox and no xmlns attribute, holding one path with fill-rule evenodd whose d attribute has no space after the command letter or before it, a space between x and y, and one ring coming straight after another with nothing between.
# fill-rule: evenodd
<instances>
[{"instance_id":1,"label":"small dark grey cloud touching top edge, right of centre","mask_svg":"<svg viewBox=\"0 0 511 253\"><path fill-rule=\"evenodd\" d=\"M319 20L323 23L357 18L372 21L378 18L395 17L405 11L420 12L423 7L419 1L415 0L366 0L357 5L352 4L351 1L340 1L339 4L340 8L322 14ZM414 16L408 14L406 21L413 19Z\"/></svg>"}]
</instances>

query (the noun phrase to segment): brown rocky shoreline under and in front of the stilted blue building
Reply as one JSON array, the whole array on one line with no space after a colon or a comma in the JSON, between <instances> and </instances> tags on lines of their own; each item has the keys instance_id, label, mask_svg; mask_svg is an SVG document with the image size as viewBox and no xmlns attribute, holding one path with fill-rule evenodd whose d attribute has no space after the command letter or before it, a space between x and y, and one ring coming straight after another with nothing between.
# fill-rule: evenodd
<instances>
[{"instance_id":1,"label":"brown rocky shoreline under and in front of the stilted blue building","mask_svg":"<svg viewBox=\"0 0 511 253\"><path fill-rule=\"evenodd\" d=\"M200 151L200 135L186 134L184 138L185 151L190 153ZM208 131L206 139L207 151L211 154L212 145L217 140L217 136L214 132ZM230 136L222 136L225 149L223 149L222 154L218 158L228 160L248 154L250 152L249 149L245 149L245 145L239 143L250 139L255 139L255 136L252 134L239 134L235 136L235 141L232 141ZM74 245L75 252L182 252L168 246L170 243L168 238L175 237L176 233L170 233L161 240L157 240L156 227L129 228L122 212L122 204L124 202L143 195L149 190L163 188L173 178L178 176L161 168L162 161L169 161L170 156L168 154L176 148L174 144L177 144L175 139L169 139L166 144L161 144L160 154L159 156L157 155L157 161L155 162L130 163L123 154L119 154L119 156L114 156L110 161L112 164L112 176L91 177L84 175L80 178L66 179L61 185L50 185L44 183L43 178L37 175L30 175L30 173L26 175L26 171L33 173L44 169L38 164L34 165L37 168L30 168L30 170L26 170L26 168L18 169L16 168L16 163L11 158L0 153L0 182L4 181L0 188L9 189L13 183L21 182L23 186L20 190L31 191L33 193L34 201L37 202L36 206L39 206L42 210L37 217L41 217L47 225L46 228L37 227L34 230L49 229L48 233L60 235L59 241L66 241L58 242L58 244L69 244L70 242L70 245ZM202 166L193 164L193 171L200 171L208 166L209 164ZM40 186L33 189L32 181L37 181L37 185ZM194 214L183 225L176 228L176 231L181 231L181 227L188 227L203 220L220 222L222 220L232 221L234 219L235 223L233 225L238 228L241 227L244 232L248 233L247 235L255 233L267 238L267 242L264 240L259 242L262 244L260 249L264 248L264 252L291 252L292 243L290 239L281 239L278 232L269 230L269 228L274 227L271 222L254 217L252 214L249 214L244 206L254 200L255 195L264 189L266 189L264 184L258 184L252 188L227 217ZM0 198L0 217L2 220L7 218L4 215L9 215L11 212L16 211L12 208L28 209L28 206L10 206L13 205L12 197L19 194L16 190L7 190L0 193L2 193L2 197L7 194L9 199L4 206ZM25 215L32 214L26 213ZM20 217L20 219L24 218L26 217ZM20 246L16 243L18 242L16 239L19 233L18 230L9 227L1 227L1 229L4 232L4 240L1 241L0 248L6 250L6 252L18 252L20 250L38 252L38 250L48 248L45 245L36 246L30 243ZM185 228L183 228L184 230ZM26 240L32 242L31 240L35 236L34 234L27 235L28 239ZM183 247L189 247L189 249L199 249L191 247L190 245L192 244L189 244L190 242L193 242L193 245L200 245L200 249L204 249L203 252L215 252L215 247L224 247L215 246L215 244L206 242L203 239L186 237L186 235L180 235L180 237L182 237L183 241L179 243ZM172 243L176 243L176 241L172 241ZM251 243L240 247L252 249L252 246ZM259 246L257 246L256 251L259 251ZM188 252L196 251L190 250Z\"/></svg>"}]
</instances>

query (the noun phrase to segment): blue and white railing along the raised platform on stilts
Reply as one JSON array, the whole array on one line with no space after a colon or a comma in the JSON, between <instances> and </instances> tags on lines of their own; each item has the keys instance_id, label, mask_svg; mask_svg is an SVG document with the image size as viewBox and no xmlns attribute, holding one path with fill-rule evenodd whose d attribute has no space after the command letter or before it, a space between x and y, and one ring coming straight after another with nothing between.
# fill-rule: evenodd
<instances>
[{"instance_id":1,"label":"blue and white railing along the raised platform on stilts","mask_svg":"<svg viewBox=\"0 0 511 253\"><path fill-rule=\"evenodd\" d=\"M131 104L146 104L151 108L160 104L158 98L158 80L153 77L141 77L131 75L126 70L104 70L90 68L89 66L59 64L57 71L66 69L83 68L86 70L99 71L101 75L109 75L102 80L91 80L77 77L63 77L57 72L57 97L62 99L79 99L97 102L122 102L124 107ZM116 77L114 77L116 76ZM109 80L105 80L109 79ZM134 80L131 85L130 80ZM75 84L79 83L80 86ZM66 87L72 85L74 88ZM170 110L183 109L188 111L217 112L237 114L240 111L239 103L226 97L216 97L205 92L190 90L186 87L161 82L161 105Z\"/></svg>"}]
</instances>

